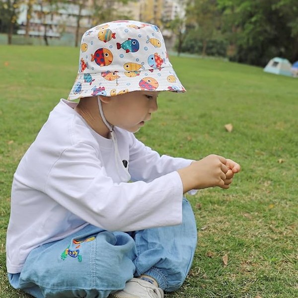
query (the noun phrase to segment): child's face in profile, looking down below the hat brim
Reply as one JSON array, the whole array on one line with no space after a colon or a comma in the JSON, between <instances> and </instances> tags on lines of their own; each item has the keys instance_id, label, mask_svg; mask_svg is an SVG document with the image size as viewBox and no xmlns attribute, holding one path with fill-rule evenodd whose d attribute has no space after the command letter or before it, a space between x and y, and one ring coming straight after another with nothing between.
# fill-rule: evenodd
<instances>
[{"instance_id":1,"label":"child's face in profile, looking down below the hat brim","mask_svg":"<svg viewBox=\"0 0 298 298\"><path fill-rule=\"evenodd\" d=\"M100 96L106 120L135 133L157 110L157 91L134 91L113 97Z\"/></svg>"}]
</instances>

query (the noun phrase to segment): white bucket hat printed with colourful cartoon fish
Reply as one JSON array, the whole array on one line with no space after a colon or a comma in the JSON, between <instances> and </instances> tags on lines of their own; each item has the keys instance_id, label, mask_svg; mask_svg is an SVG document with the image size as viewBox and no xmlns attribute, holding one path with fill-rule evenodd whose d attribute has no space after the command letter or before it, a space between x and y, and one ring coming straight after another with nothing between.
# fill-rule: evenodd
<instances>
[{"instance_id":1,"label":"white bucket hat printed with colourful cartoon fish","mask_svg":"<svg viewBox=\"0 0 298 298\"><path fill-rule=\"evenodd\" d=\"M68 97L114 96L137 90L184 92L155 25L119 20L87 30Z\"/></svg>"}]
</instances>

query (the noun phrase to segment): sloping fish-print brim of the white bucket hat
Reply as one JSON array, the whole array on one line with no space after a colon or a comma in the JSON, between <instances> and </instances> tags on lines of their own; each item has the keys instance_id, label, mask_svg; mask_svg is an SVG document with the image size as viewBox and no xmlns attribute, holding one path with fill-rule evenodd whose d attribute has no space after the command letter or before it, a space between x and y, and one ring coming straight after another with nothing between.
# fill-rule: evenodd
<instances>
[{"instance_id":1,"label":"sloping fish-print brim of the white bucket hat","mask_svg":"<svg viewBox=\"0 0 298 298\"><path fill-rule=\"evenodd\" d=\"M173 68L166 66L134 72L78 73L68 99L114 96L141 90L186 91Z\"/></svg>"}]
</instances>

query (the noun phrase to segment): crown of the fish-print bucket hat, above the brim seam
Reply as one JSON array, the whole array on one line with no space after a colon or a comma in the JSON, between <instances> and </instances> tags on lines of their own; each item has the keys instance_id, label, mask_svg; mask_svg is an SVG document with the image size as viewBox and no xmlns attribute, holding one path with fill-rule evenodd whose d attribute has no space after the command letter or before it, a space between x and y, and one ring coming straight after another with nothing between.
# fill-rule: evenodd
<instances>
[{"instance_id":1,"label":"crown of the fish-print bucket hat, above the brim seam","mask_svg":"<svg viewBox=\"0 0 298 298\"><path fill-rule=\"evenodd\" d=\"M171 66L155 25L121 20L94 26L81 39L78 73L136 72Z\"/></svg>"}]
</instances>

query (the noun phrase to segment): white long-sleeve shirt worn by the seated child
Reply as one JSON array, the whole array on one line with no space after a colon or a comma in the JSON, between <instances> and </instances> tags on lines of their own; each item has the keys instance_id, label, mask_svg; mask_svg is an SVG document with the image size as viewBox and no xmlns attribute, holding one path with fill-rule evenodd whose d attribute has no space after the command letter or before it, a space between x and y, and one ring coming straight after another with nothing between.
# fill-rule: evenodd
<instances>
[{"instance_id":1,"label":"white long-sleeve shirt worn by the seated child","mask_svg":"<svg viewBox=\"0 0 298 298\"><path fill-rule=\"evenodd\" d=\"M60 101L14 174L9 273L21 271L33 248L87 224L133 231L182 221L183 185L176 170L192 160L160 156L134 134L115 128L120 158L128 161L135 182L122 181L112 140L95 133L74 105Z\"/></svg>"}]
</instances>

